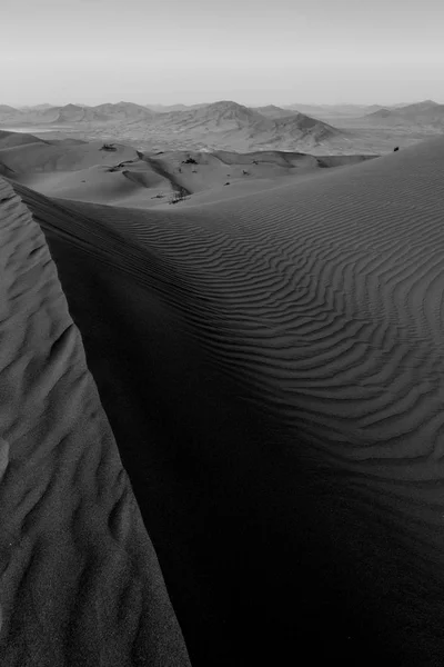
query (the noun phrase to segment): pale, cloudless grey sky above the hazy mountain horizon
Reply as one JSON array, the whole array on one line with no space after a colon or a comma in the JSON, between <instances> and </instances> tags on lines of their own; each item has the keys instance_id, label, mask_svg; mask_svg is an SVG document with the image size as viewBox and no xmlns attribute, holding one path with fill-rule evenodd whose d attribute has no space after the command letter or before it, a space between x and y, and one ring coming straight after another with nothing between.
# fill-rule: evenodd
<instances>
[{"instance_id":1,"label":"pale, cloudless grey sky above the hazy mountain horizon","mask_svg":"<svg viewBox=\"0 0 444 667\"><path fill-rule=\"evenodd\" d=\"M444 102L440 0L1 0L0 103Z\"/></svg>"}]
</instances>

